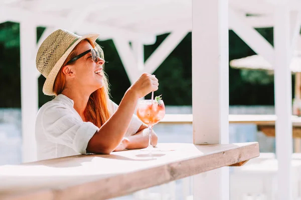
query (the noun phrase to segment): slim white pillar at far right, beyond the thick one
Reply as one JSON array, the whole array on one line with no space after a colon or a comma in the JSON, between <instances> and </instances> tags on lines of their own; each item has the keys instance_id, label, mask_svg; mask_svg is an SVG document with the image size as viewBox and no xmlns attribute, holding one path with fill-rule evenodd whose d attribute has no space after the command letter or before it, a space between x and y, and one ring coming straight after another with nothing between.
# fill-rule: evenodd
<instances>
[{"instance_id":1,"label":"slim white pillar at far right, beyond the thick one","mask_svg":"<svg viewBox=\"0 0 301 200\"><path fill-rule=\"evenodd\" d=\"M275 66L275 113L276 155L278 159L278 199L291 199L291 74L290 21L287 0L279 0L275 6L274 25L274 66Z\"/></svg>"}]
</instances>

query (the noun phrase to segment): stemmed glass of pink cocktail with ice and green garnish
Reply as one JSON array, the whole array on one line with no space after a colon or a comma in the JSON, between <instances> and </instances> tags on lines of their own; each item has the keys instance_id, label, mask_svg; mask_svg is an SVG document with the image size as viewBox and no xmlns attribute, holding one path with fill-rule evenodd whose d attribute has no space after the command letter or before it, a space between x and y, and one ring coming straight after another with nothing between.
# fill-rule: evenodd
<instances>
[{"instance_id":1,"label":"stemmed glass of pink cocktail with ice and green garnish","mask_svg":"<svg viewBox=\"0 0 301 200\"><path fill-rule=\"evenodd\" d=\"M137 105L137 116L149 128L148 147L141 150L153 151L152 143L153 126L165 116L165 106L162 99L144 100L140 99Z\"/></svg>"}]
</instances>

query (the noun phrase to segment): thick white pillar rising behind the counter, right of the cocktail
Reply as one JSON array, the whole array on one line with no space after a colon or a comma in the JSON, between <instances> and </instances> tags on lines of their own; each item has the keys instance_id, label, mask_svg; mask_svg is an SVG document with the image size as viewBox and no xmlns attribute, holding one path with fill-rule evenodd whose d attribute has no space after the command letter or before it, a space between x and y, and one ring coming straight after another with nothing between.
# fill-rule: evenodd
<instances>
[{"instance_id":1,"label":"thick white pillar rising behind the counter, right of the cocktail","mask_svg":"<svg viewBox=\"0 0 301 200\"><path fill-rule=\"evenodd\" d=\"M228 0L193 0L192 22L194 143L228 143ZM194 176L194 199L229 199L229 168Z\"/></svg>"}]
</instances>

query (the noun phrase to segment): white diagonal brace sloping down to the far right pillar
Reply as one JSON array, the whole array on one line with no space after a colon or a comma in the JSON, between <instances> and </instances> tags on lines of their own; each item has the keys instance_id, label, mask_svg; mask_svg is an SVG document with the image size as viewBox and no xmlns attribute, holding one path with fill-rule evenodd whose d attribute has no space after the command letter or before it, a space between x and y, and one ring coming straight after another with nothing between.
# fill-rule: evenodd
<instances>
[{"instance_id":1,"label":"white diagonal brace sloping down to the far right pillar","mask_svg":"<svg viewBox=\"0 0 301 200\"><path fill-rule=\"evenodd\" d=\"M273 46L252 26L247 24L245 17L229 9L229 22L233 31L252 48L257 54L264 57L269 63L273 63Z\"/></svg>"}]
</instances>

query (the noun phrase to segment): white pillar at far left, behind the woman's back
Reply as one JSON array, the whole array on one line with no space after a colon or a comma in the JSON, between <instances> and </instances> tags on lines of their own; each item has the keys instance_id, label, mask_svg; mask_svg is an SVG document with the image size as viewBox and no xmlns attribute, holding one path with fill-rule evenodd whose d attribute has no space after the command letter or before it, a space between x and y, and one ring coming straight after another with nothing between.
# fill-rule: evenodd
<instances>
[{"instance_id":1,"label":"white pillar at far left, behind the woman's back","mask_svg":"<svg viewBox=\"0 0 301 200\"><path fill-rule=\"evenodd\" d=\"M22 110L22 157L23 162L37 159L35 122L38 112L38 80L35 59L37 45L36 26L30 21L20 23L21 54L21 110Z\"/></svg>"}]
</instances>

